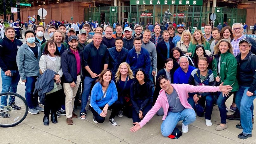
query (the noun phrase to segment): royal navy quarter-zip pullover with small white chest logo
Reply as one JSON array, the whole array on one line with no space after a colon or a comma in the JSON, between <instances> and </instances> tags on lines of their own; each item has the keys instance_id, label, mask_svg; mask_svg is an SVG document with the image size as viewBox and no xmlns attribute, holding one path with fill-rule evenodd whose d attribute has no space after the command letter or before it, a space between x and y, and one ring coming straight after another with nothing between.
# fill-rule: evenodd
<instances>
[{"instance_id":1,"label":"royal navy quarter-zip pullover with small white chest logo","mask_svg":"<svg viewBox=\"0 0 256 144\"><path fill-rule=\"evenodd\" d=\"M149 58L149 52L141 48L141 51L139 54L136 53L135 48L131 49L128 52L126 63L128 63L131 67L131 70L133 74L135 74L135 71L139 68L142 68L147 75L149 75L150 70L150 58Z\"/></svg>"}]
</instances>

